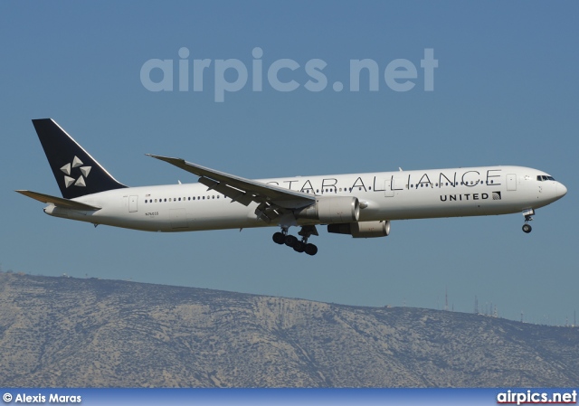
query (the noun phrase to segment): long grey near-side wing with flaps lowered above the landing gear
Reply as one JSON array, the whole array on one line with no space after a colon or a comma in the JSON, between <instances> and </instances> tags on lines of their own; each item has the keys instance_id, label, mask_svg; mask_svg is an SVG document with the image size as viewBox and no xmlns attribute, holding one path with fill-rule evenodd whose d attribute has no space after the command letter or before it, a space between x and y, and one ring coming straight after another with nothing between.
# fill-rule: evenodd
<instances>
[{"instance_id":1,"label":"long grey near-side wing with flaps lowered above the landing gear","mask_svg":"<svg viewBox=\"0 0 579 406\"><path fill-rule=\"evenodd\" d=\"M151 154L147 154L147 156L176 165L187 172L199 176L201 184L206 185L209 190L224 194L232 199L232 202L239 202L246 206L252 202L261 203L258 210L262 212L267 211L267 209L275 210L276 207L280 209L300 209L316 203L314 194L305 194L273 184L263 184L240 176L225 174L224 172L186 162L181 158ZM271 208L271 206L274 207ZM281 211L283 212L283 210ZM276 213L280 214L280 212Z\"/></svg>"}]
</instances>

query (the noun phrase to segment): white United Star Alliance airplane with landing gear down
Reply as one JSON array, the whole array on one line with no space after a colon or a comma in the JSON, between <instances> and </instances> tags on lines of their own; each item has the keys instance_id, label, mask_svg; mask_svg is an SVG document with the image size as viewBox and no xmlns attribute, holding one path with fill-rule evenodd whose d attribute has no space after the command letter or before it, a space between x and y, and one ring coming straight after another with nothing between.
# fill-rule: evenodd
<instances>
[{"instance_id":1,"label":"white United Star Alliance airplane with landing gear down","mask_svg":"<svg viewBox=\"0 0 579 406\"><path fill-rule=\"evenodd\" d=\"M385 237L391 221L522 212L561 199L565 185L521 166L478 166L347 175L245 179L182 158L157 156L198 176L196 184L128 187L119 183L52 118L33 119L62 197L16 190L48 204L56 217L140 231L280 227L273 241L315 255L308 239L327 231ZM299 237L289 234L300 227Z\"/></svg>"}]
</instances>

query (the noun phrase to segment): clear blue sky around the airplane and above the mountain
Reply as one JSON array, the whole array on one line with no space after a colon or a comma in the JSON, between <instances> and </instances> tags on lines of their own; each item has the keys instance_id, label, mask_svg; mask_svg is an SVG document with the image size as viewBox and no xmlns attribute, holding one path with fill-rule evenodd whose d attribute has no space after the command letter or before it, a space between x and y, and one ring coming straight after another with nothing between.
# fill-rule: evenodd
<instances>
[{"instance_id":1,"label":"clear blue sky around the airplane and above the mountain","mask_svg":"<svg viewBox=\"0 0 579 406\"><path fill-rule=\"evenodd\" d=\"M31 274L233 290L361 306L409 306L573 322L579 310L577 128L579 28L574 2L99 2L0 4L4 212L0 263ZM149 91L151 59L209 59L203 91ZM252 90L252 50L263 55L263 90ZM424 91L421 60L438 67ZM216 60L248 68L239 91L215 102ZM297 61L272 89L274 61ZM349 61L379 67L378 91L350 91ZM417 68L394 91L391 61ZM327 87L304 87L305 65L327 63ZM160 71L151 73L160 80ZM236 75L229 71L226 80ZM344 90L333 90L333 83ZM191 86L192 87L192 79ZM271 241L274 229L159 234L68 222L15 194L58 194L32 118L54 118L119 181L195 182L146 153L249 178L470 165L524 165L569 189L521 214L394 222L385 239L322 231L316 257Z\"/></svg>"}]
</instances>

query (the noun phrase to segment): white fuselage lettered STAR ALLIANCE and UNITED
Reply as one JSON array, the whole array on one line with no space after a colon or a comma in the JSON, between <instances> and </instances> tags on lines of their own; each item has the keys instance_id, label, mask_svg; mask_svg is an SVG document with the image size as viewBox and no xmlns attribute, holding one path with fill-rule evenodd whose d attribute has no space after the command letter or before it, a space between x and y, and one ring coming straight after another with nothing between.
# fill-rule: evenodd
<instances>
[{"instance_id":1,"label":"white fuselage lettered STAR ALLIANCE and UNITED","mask_svg":"<svg viewBox=\"0 0 579 406\"><path fill-rule=\"evenodd\" d=\"M507 214L537 209L566 193L546 173L521 166L398 171L369 174L261 179L292 191L319 196L352 196L361 203L360 222ZM543 180L541 179L543 176ZM551 178L552 179L552 178ZM202 231L261 226L257 203L245 206L204 184L139 186L77 199L96 212L49 205L45 212L72 220L143 231ZM318 224L298 220L299 225Z\"/></svg>"}]
</instances>

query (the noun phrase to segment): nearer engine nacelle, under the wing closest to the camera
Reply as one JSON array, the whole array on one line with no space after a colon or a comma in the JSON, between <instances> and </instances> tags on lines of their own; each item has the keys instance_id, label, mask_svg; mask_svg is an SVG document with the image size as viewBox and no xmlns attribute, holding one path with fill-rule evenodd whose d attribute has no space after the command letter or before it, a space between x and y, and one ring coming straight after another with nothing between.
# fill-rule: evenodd
<instances>
[{"instance_id":1,"label":"nearer engine nacelle, under the wing closest to the camera","mask_svg":"<svg viewBox=\"0 0 579 406\"><path fill-rule=\"evenodd\" d=\"M319 220L327 224L357 222L360 218L360 202L356 197L318 197L316 203L296 212L296 218Z\"/></svg>"}]
</instances>

